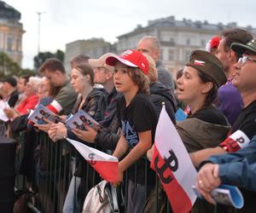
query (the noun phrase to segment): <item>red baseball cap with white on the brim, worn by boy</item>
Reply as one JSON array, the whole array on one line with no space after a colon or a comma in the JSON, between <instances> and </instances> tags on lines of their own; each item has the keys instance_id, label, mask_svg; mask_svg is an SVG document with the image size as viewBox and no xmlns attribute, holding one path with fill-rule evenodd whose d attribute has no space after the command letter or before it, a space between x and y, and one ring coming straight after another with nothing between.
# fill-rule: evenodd
<instances>
[{"instance_id":1,"label":"red baseball cap with white on the brim, worn by boy","mask_svg":"<svg viewBox=\"0 0 256 213\"><path fill-rule=\"evenodd\" d=\"M121 55L112 55L106 59L106 64L115 66L116 62L120 61L122 64L131 67L137 67L144 74L148 74L149 64L147 58L136 49L128 49Z\"/></svg>"}]
</instances>

